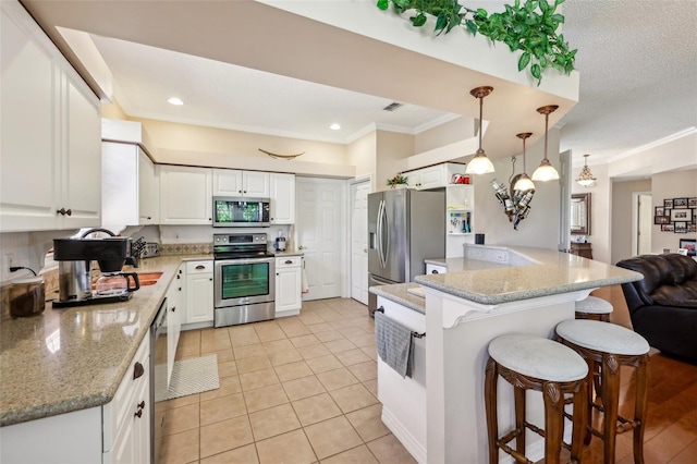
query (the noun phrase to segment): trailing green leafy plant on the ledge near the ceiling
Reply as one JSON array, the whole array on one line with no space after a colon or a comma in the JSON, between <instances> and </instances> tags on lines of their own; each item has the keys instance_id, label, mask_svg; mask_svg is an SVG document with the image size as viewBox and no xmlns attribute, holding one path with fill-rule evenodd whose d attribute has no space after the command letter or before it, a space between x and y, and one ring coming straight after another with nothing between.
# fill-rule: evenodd
<instances>
[{"instance_id":1,"label":"trailing green leafy plant on the ledge near the ceiling","mask_svg":"<svg viewBox=\"0 0 697 464\"><path fill-rule=\"evenodd\" d=\"M518 58L518 71L529 68L537 80L542 81L542 72L553 68L570 74L574 70L574 57L577 50L570 50L563 34L557 29L564 23L564 16L557 13L557 7L564 0L515 0L506 4L501 13L487 13L484 9L472 10L457 3L457 0L378 0L378 8L392 9L402 14L414 11L409 17L414 27L426 24L428 15L436 17L437 35L448 34L456 26L464 26L472 35L477 33L490 40L503 42L511 51L522 50Z\"/></svg>"}]
</instances>

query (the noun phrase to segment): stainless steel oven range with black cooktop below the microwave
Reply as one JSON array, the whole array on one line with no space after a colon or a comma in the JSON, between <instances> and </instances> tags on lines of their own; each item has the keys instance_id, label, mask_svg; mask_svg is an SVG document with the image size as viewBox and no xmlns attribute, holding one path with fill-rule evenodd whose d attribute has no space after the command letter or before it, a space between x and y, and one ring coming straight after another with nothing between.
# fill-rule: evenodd
<instances>
[{"instance_id":1,"label":"stainless steel oven range with black cooktop below the microwave","mask_svg":"<svg viewBox=\"0 0 697 464\"><path fill-rule=\"evenodd\" d=\"M213 235L213 326L273 319L276 258L266 234Z\"/></svg>"}]
</instances>

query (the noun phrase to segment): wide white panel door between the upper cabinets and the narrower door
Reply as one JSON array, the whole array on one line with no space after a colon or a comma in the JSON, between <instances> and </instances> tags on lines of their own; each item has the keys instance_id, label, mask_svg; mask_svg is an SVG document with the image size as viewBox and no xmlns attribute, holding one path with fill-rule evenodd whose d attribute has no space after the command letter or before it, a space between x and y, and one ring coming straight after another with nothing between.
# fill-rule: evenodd
<instances>
[{"instance_id":1,"label":"wide white panel door between the upper cabinets and the narrower door","mask_svg":"<svg viewBox=\"0 0 697 464\"><path fill-rule=\"evenodd\" d=\"M341 296L343 191L343 181L296 178L295 243L305 256L308 289L303 301Z\"/></svg>"}]
</instances>

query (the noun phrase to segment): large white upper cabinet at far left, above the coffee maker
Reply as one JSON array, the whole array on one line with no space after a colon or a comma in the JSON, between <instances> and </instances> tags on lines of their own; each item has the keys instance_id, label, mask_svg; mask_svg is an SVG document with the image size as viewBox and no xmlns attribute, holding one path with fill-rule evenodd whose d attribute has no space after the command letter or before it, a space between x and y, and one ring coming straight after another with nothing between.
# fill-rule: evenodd
<instances>
[{"instance_id":1,"label":"large white upper cabinet at far left, above the coffee maker","mask_svg":"<svg viewBox=\"0 0 697 464\"><path fill-rule=\"evenodd\" d=\"M0 3L0 232L98 227L99 99L19 3Z\"/></svg>"}]
</instances>

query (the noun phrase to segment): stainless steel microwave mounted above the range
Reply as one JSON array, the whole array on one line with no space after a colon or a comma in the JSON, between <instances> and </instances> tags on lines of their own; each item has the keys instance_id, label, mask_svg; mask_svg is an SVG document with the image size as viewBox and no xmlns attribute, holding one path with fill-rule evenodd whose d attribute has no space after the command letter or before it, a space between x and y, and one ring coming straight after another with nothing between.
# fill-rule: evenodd
<instances>
[{"instance_id":1,"label":"stainless steel microwave mounted above the range","mask_svg":"<svg viewBox=\"0 0 697 464\"><path fill-rule=\"evenodd\" d=\"M268 228L269 198L213 197L215 228Z\"/></svg>"}]
</instances>

